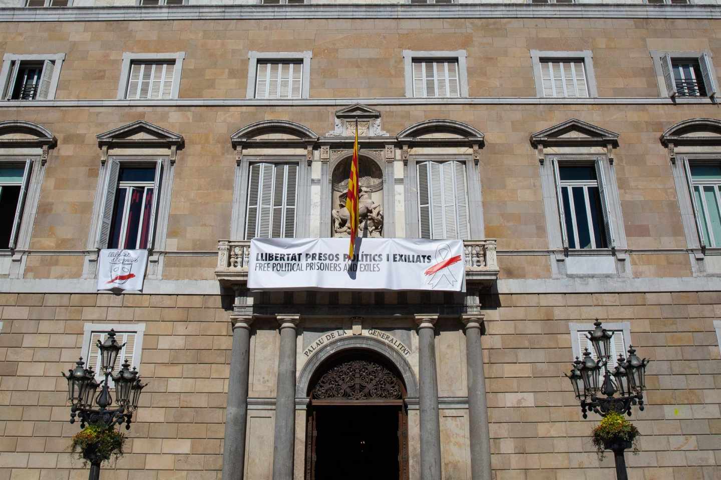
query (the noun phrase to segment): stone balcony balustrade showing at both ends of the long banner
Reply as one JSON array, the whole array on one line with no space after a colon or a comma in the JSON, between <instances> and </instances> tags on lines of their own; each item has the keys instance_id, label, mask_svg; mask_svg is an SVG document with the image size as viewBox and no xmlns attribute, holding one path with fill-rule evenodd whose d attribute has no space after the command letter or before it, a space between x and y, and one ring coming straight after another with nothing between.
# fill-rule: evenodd
<instances>
[{"instance_id":1,"label":"stone balcony balustrade showing at both ends of the long banner","mask_svg":"<svg viewBox=\"0 0 721 480\"><path fill-rule=\"evenodd\" d=\"M498 279L495 238L464 240L466 282L491 284ZM224 284L248 280L249 240L218 240L216 279Z\"/></svg>"}]
</instances>

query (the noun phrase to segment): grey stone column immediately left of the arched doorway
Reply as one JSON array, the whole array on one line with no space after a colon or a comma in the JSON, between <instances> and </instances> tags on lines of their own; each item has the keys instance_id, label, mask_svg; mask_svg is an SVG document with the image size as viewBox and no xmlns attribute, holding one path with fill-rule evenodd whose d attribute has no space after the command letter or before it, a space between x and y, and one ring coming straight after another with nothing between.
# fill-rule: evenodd
<instances>
[{"instance_id":1,"label":"grey stone column immediately left of the arched doorway","mask_svg":"<svg viewBox=\"0 0 721 480\"><path fill-rule=\"evenodd\" d=\"M299 315L276 315L280 324L278 383L275 387L273 480L293 480L296 438L296 327Z\"/></svg>"}]
</instances>

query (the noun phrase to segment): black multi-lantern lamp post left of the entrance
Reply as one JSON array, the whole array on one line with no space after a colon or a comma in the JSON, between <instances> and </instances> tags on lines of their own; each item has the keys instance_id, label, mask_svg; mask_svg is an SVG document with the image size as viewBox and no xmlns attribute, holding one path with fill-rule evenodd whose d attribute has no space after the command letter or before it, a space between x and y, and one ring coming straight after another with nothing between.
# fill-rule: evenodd
<instances>
[{"instance_id":1,"label":"black multi-lantern lamp post left of the entrance","mask_svg":"<svg viewBox=\"0 0 721 480\"><path fill-rule=\"evenodd\" d=\"M95 380L95 372L92 367L84 368L82 357L76 361L75 368L71 368L63 376L68 381L68 400L70 401L70 422L75 423L76 418L80 420L80 427L86 424L101 425L107 429L115 428L125 423L125 430L130 430L133 413L138 409L138 400L143 388L138 371L127 360L117 374L112 375L112 368L118 359L118 353L125 346L118 344L115 340L115 330L110 330L105 342L98 340L97 347L100 356L100 373L105 376L102 383ZM115 404L112 408L112 397L110 396L109 379L115 384ZM100 393L95 396L97 389ZM97 405L94 407L93 402ZM110 407L110 408L109 408ZM100 458L97 451L88 448L83 452L84 458L90 462L89 480L99 480Z\"/></svg>"}]
</instances>

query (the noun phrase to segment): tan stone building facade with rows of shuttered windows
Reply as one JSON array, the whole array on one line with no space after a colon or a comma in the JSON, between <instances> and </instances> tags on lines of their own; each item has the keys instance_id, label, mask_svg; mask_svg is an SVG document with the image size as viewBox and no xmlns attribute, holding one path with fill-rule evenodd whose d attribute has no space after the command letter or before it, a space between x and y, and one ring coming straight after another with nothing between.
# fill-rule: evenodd
<instances>
[{"instance_id":1,"label":"tan stone building facade with rows of shuttered windows","mask_svg":"<svg viewBox=\"0 0 721 480\"><path fill-rule=\"evenodd\" d=\"M103 479L608 478L562 376L596 318L653 360L629 478L720 478L715 4L3 3L0 480L87 475L59 373L110 327L149 386ZM249 238L347 235L355 119L371 236L463 239L464 294L247 289ZM142 292L97 291L118 242Z\"/></svg>"}]
</instances>

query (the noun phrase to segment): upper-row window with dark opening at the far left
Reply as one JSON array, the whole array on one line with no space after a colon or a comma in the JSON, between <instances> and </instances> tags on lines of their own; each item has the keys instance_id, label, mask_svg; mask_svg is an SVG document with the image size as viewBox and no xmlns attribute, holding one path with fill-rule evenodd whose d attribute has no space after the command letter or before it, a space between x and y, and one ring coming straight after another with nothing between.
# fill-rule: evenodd
<instances>
[{"instance_id":1,"label":"upper-row window with dark opening at the far left","mask_svg":"<svg viewBox=\"0 0 721 480\"><path fill-rule=\"evenodd\" d=\"M3 58L0 82L6 100L52 100L58 88L64 53L13 55Z\"/></svg>"}]
</instances>

